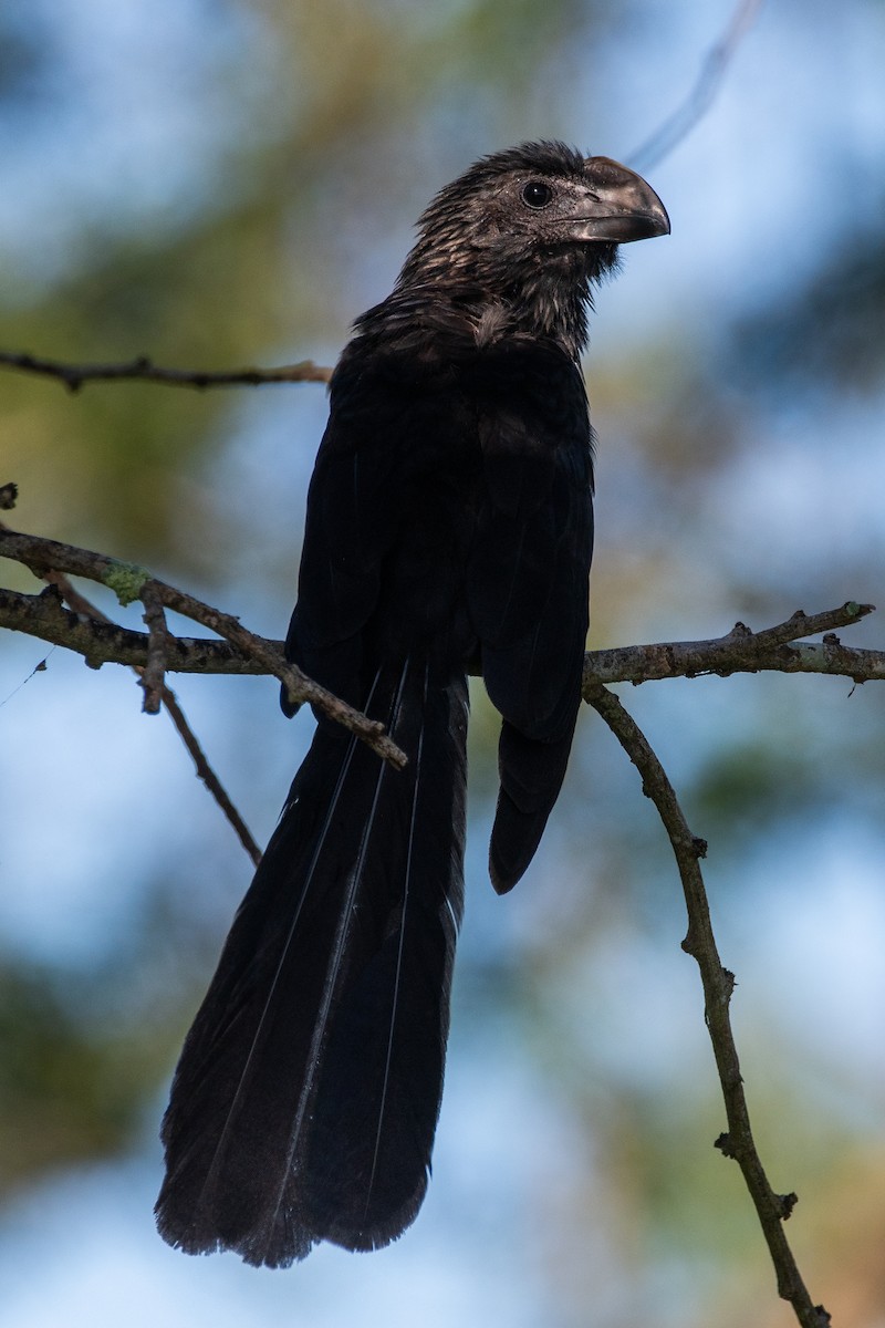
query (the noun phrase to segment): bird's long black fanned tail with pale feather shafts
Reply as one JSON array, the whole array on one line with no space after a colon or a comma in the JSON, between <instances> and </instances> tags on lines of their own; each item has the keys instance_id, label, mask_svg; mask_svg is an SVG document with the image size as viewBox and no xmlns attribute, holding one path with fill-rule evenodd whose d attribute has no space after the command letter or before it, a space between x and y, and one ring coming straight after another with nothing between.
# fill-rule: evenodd
<instances>
[{"instance_id":1,"label":"bird's long black fanned tail with pale feather shafts","mask_svg":"<svg viewBox=\"0 0 885 1328\"><path fill-rule=\"evenodd\" d=\"M281 1266L414 1219L463 900L463 677L386 665L397 772L321 721L175 1072L159 1231Z\"/></svg>"}]
</instances>

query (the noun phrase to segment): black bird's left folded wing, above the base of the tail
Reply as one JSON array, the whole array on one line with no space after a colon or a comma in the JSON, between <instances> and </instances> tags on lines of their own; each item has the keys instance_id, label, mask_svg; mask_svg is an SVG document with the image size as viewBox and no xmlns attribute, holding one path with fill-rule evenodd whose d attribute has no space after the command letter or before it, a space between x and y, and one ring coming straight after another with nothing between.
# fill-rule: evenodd
<instances>
[{"instance_id":1,"label":"black bird's left folded wing, above the base of the tail","mask_svg":"<svg viewBox=\"0 0 885 1328\"><path fill-rule=\"evenodd\" d=\"M357 344L336 371L308 495L289 657L360 704L381 660L474 653L464 564L482 491L475 412L446 355L414 335Z\"/></svg>"}]
</instances>

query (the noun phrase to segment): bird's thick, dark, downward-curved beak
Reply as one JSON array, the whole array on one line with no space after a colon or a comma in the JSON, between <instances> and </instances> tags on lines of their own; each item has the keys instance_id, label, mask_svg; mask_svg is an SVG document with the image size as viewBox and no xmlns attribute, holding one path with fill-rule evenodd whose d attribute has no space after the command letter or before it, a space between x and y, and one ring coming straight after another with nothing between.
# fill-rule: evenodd
<instances>
[{"instance_id":1,"label":"bird's thick, dark, downward-curved beak","mask_svg":"<svg viewBox=\"0 0 885 1328\"><path fill-rule=\"evenodd\" d=\"M573 222L576 240L629 244L670 234L666 208L641 175L610 157L588 157L584 171L586 195Z\"/></svg>"}]
</instances>

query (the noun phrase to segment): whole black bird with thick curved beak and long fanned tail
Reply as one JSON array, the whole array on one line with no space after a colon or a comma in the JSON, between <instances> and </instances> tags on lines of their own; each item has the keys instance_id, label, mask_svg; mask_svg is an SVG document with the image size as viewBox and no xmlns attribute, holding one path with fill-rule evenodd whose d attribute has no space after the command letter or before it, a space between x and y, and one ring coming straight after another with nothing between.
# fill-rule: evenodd
<instances>
[{"instance_id":1,"label":"whole black bird with thick curved beak and long fanned tail","mask_svg":"<svg viewBox=\"0 0 885 1328\"><path fill-rule=\"evenodd\" d=\"M580 704L593 535L579 357L653 190L559 142L443 189L334 371L291 660L383 721L401 773L317 714L163 1121L159 1231L279 1267L414 1220L462 914L467 679L503 716L490 872L525 871ZM284 709L295 709L284 701Z\"/></svg>"}]
</instances>

